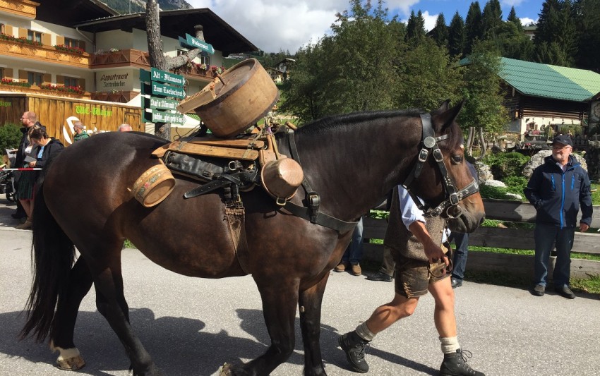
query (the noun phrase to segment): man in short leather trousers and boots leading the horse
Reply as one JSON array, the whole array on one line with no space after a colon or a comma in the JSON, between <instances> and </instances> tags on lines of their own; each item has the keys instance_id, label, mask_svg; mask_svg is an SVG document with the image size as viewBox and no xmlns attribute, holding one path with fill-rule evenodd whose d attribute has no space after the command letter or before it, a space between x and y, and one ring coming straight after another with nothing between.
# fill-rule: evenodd
<instances>
[{"instance_id":1,"label":"man in short leather trousers and boots leading the horse","mask_svg":"<svg viewBox=\"0 0 600 376\"><path fill-rule=\"evenodd\" d=\"M429 291L436 304L433 321L444 354L440 375L484 376L466 363L471 354L462 351L458 343L454 291L446 272L450 262L443 250L445 220L426 220L402 186L395 190L391 205L385 243L395 259L395 296L390 303L376 308L356 330L339 337L348 362L356 372L368 372L364 358L368 343L394 322L412 315L419 298Z\"/></svg>"}]
</instances>

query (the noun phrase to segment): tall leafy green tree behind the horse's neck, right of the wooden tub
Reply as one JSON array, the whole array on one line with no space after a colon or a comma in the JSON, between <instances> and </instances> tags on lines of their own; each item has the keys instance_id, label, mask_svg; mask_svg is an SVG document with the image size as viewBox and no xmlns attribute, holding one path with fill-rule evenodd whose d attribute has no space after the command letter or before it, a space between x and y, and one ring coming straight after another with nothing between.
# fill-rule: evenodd
<instances>
[{"instance_id":1,"label":"tall leafy green tree behind the horse's neck, right of the wooden tub","mask_svg":"<svg viewBox=\"0 0 600 376\"><path fill-rule=\"evenodd\" d=\"M280 111L303 122L332 114L395 106L394 63L404 25L392 19L383 1L364 6L350 1L351 10L337 15L332 35L300 49L294 74L284 85L286 102ZM357 48L357 46L359 48Z\"/></svg>"}]
</instances>

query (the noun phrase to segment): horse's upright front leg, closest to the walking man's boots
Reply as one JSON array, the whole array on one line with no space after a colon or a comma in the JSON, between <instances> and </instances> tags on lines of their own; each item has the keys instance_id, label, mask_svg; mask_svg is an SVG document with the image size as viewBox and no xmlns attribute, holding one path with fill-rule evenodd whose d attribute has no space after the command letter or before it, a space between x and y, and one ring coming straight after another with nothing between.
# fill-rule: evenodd
<instances>
[{"instance_id":1,"label":"horse's upright front leg, closest to the walking man's boots","mask_svg":"<svg viewBox=\"0 0 600 376\"><path fill-rule=\"evenodd\" d=\"M311 288L300 291L300 329L302 330L302 341L304 343L304 375L325 376L323 357L320 348L320 320L323 293L329 273Z\"/></svg>"}]
</instances>

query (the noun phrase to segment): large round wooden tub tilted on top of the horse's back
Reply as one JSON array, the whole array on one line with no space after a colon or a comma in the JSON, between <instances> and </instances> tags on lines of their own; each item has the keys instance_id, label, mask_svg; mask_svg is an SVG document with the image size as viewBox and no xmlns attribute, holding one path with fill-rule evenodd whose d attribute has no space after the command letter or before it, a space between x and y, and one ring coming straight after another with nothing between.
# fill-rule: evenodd
<instances>
[{"instance_id":1,"label":"large round wooden tub tilted on top of the horse's back","mask_svg":"<svg viewBox=\"0 0 600 376\"><path fill-rule=\"evenodd\" d=\"M269 73L256 59L244 60L177 107L193 109L213 135L227 138L253 126L272 109L279 90Z\"/></svg>"}]
</instances>

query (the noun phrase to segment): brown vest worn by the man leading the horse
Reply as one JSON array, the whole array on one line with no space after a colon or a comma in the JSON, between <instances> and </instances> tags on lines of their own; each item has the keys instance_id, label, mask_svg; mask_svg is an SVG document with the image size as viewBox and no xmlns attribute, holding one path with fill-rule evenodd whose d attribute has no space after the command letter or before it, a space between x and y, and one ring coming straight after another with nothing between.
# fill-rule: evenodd
<instances>
[{"instance_id":1,"label":"brown vest worn by the man leading the horse","mask_svg":"<svg viewBox=\"0 0 600 376\"><path fill-rule=\"evenodd\" d=\"M445 219L440 217L427 218L425 227L431 235L431 239L436 244L442 243L442 235L445 227ZM392 195L392 206L390 207L390 217L388 217L388 228L385 229L383 244L397 250L403 257L414 260L428 261L425 256L423 244L417 240L416 236L410 232L400 215L400 198L398 190L394 188Z\"/></svg>"}]
</instances>

